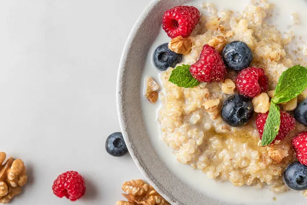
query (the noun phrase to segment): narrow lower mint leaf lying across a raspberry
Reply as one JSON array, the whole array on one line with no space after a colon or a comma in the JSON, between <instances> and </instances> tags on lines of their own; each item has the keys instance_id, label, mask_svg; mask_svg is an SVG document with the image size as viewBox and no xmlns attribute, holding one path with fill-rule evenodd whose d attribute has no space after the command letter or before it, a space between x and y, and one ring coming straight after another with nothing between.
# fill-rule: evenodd
<instances>
[{"instance_id":1,"label":"narrow lower mint leaf lying across a raspberry","mask_svg":"<svg viewBox=\"0 0 307 205\"><path fill-rule=\"evenodd\" d=\"M270 145L278 134L280 126L279 107L271 101L269 115L262 134L261 146Z\"/></svg>"}]
</instances>

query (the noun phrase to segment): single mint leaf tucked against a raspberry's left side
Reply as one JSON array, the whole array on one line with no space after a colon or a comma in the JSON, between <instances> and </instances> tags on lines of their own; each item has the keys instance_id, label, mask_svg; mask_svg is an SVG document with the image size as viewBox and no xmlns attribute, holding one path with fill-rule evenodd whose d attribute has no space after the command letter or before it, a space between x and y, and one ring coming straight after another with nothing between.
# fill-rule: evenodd
<instances>
[{"instance_id":1,"label":"single mint leaf tucked against a raspberry's left side","mask_svg":"<svg viewBox=\"0 0 307 205\"><path fill-rule=\"evenodd\" d=\"M193 88L200 84L200 82L191 75L189 65L178 66L176 69L172 70L168 81L183 88Z\"/></svg>"}]
</instances>

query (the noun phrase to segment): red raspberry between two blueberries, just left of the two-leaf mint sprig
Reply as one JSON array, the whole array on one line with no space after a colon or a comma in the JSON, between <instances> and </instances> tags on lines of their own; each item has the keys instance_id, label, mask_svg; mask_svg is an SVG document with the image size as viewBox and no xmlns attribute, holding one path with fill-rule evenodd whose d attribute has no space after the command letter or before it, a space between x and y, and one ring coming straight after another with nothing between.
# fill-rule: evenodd
<instances>
[{"instance_id":1,"label":"red raspberry between two blueberries, just left of the two-leaf mint sprig","mask_svg":"<svg viewBox=\"0 0 307 205\"><path fill-rule=\"evenodd\" d=\"M262 68L246 68L239 72L235 85L240 94L247 97L256 97L269 90L268 76Z\"/></svg>"}]
</instances>

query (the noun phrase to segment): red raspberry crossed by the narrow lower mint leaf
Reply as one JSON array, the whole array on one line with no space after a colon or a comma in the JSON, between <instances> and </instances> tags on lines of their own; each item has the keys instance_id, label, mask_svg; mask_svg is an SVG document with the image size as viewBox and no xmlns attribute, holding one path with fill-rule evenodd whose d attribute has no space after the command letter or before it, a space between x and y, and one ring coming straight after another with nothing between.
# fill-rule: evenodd
<instances>
[{"instance_id":1,"label":"red raspberry crossed by the narrow lower mint leaf","mask_svg":"<svg viewBox=\"0 0 307 205\"><path fill-rule=\"evenodd\" d=\"M263 114L259 113L256 118L256 127L260 136L260 139L262 139L262 134L264 133L265 124L268 118L269 112ZM280 111L280 126L279 131L273 142L274 144L275 140L283 140L284 137L287 136L287 134L295 129L295 119L292 117L289 113Z\"/></svg>"}]
</instances>

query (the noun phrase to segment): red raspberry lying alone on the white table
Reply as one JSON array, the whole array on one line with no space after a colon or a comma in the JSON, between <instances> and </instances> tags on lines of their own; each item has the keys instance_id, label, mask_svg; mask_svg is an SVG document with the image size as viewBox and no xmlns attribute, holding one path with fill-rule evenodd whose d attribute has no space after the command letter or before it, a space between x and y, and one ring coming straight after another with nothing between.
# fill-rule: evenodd
<instances>
[{"instance_id":1,"label":"red raspberry lying alone on the white table","mask_svg":"<svg viewBox=\"0 0 307 205\"><path fill-rule=\"evenodd\" d=\"M65 196L71 201L76 201L85 194L84 178L78 172L65 172L53 182L52 191L57 197Z\"/></svg>"}]
</instances>

